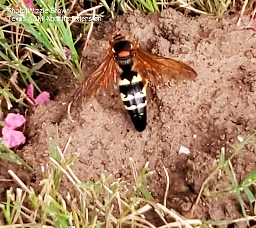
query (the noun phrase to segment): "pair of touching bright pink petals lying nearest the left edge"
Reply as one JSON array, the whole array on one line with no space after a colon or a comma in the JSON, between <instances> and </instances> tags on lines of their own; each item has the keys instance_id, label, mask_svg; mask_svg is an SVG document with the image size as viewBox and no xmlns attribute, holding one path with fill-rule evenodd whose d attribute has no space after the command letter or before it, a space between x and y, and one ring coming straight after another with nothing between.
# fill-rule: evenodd
<instances>
[{"instance_id":1,"label":"pair of touching bright pink petals lying nearest the left edge","mask_svg":"<svg viewBox=\"0 0 256 228\"><path fill-rule=\"evenodd\" d=\"M4 127L2 129L3 142L8 148L13 148L24 144L26 137L20 131L15 130L26 122L24 116L19 113L9 113L4 119Z\"/></svg>"}]
</instances>

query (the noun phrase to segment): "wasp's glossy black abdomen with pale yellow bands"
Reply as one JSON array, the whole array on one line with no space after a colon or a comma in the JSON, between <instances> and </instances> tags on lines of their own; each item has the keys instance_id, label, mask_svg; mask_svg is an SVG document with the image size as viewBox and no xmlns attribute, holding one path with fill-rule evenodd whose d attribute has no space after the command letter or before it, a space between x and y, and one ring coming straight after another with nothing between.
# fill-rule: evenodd
<instances>
[{"instance_id":1,"label":"wasp's glossy black abdomen with pale yellow bands","mask_svg":"<svg viewBox=\"0 0 256 228\"><path fill-rule=\"evenodd\" d=\"M135 128L142 132L147 125L146 83L139 73L125 71L119 79L120 96Z\"/></svg>"}]
</instances>

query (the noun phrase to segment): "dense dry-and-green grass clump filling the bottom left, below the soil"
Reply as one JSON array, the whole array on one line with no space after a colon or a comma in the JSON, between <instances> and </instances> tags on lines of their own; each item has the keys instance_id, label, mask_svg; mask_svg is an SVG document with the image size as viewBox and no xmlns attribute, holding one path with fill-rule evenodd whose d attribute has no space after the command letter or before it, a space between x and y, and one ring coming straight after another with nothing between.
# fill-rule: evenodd
<instances>
[{"instance_id":1,"label":"dense dry-and-green grass clump filling the bottom left, below the soil","mask_svg":"<svg viewBox=\"0 0 256 228\"><path fill-rule=\"evenodd\" d=\"M148 163L139 174L133 165L135 179L129 188L121 179L111 180L111 176L103 174L96 182L81 182L71 169L78 154L68 159L64 158L70 141L63 150L50 141L51 166L43 168L44 179L40 182L39 194L31 187L25 186L12 170L8 171L20 188L16 192L13 192L12 188L9 189L6 193L7 200L0 203L0 211L3 212L6 224L15 224L15 227L131 225L154 228L156 226L152 224L153 221L147 220L144 215L150 211L159 214L165 224L168 222L164 214L176 219L177 222L173 222L172 225L201 223L199 220L183 220L163 205L154 202L143 183L152 174L148 171ZM65 190L60 186L63 181ZM67 186L72 192L67 191Z\"/></svg>"}]
</instances>

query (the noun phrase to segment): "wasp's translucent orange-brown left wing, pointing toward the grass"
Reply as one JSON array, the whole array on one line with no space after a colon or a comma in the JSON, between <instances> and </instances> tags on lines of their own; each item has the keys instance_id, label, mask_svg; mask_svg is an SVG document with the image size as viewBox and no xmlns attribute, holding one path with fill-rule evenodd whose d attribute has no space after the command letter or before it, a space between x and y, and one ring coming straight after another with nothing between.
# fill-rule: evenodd
<instances>
[{"instance_id":1,"label":"wasp's translucent orange-brown left wing, pointing toward the grass","mask_svg":"<svg viewBox=\"0 0 256 228\"><path fill-rule=\"evenodd\" d=\"M84 81L84 98L89 99L103 91L111 92L116 84L117 73L116 61L113 53L110 52L100 66Z\"/></svg>"}]
</instances>

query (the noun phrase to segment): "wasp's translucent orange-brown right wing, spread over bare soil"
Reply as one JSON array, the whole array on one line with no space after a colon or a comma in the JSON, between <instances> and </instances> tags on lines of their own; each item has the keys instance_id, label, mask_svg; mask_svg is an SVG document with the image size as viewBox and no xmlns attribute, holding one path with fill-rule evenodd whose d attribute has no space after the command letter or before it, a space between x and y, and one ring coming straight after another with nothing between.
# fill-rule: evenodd
<instances>
[{"instance_id":1,"label":"wasp's translucent orange-brown right wing, spread over bare soil","mask_svg":"<svg viewBox=\"0 0 256 228\"><path fill-rule=\"evenodd\" d=\"M151 83L164 79L193 80L197 73L190 66L171 58L154 55L137 48L134 56L135 68Z\"/></svg>"}]
</instances>

